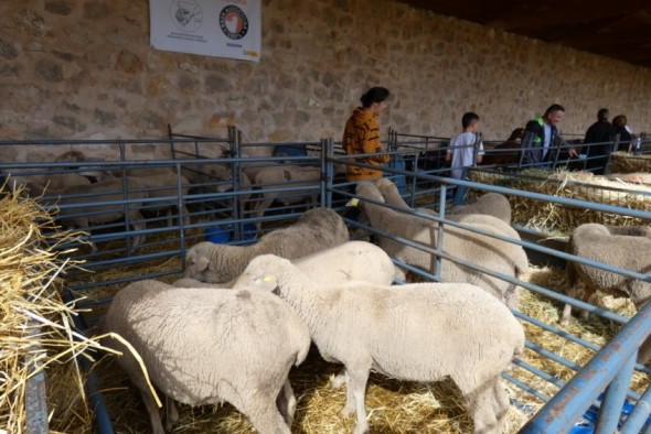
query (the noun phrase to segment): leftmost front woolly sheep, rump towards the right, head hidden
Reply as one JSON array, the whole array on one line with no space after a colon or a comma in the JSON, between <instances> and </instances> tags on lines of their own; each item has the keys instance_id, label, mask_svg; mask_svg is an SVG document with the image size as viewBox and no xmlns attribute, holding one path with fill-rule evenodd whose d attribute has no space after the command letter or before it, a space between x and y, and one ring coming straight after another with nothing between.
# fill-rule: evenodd
<instances>
[{"instance_id":1,"label":"leftmost front woolly sheep, rump towards the right, head hidden","mask_svg":"<svg viewBox=\"0 0 651 434\"><path fill-rule=\"evenodd\" d=\"M290 433L296 399L288 373L307 357L310 335L277 296L145 280L116 294L100 327L135 347L166 398L190 405L227 401L259 432ZM122 352L118 362L141 392L152 432L163 434L140 365L121 341L107 337L103 345ZM178 419L173 410L168 427Z\"/></svg>"}]
</instances>

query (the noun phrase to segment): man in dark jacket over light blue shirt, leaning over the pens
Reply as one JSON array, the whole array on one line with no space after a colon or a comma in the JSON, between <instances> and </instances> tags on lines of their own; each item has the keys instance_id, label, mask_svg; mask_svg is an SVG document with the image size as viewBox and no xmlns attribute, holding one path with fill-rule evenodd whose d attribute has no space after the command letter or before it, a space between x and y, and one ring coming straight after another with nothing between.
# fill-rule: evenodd
<instances>
[{"instance_id":1,"label":"man in dark jacket over light blue shirt, leaning over the pens","mask_svg":"<svg viewBox=\"0 0 651 434\"><path fill-rule=\"evenodd\" d=\"M556 161L556 155L562 148L567 145L558 133L556 124L563 120L565 108L553 104L543 116L530 120L524 128L522 139L521 164L548 166ZM568 148L569 156L578 158L574 148Z\"/></svg>"}]
</instances>

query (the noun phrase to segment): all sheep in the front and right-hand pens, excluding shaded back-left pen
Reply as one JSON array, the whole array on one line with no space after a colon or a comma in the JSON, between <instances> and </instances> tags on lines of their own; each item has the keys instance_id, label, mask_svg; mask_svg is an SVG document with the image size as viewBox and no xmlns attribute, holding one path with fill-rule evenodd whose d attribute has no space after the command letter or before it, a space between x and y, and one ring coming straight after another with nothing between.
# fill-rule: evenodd
<instances>
[{"instance_id":1,"label":"all sheep in the front and right-hand pens, excluding shaded back-left pen","mask_svg":"<svg viewBox=\"0 0 651 434\"><path fill-rule=\"evenodd\" d=\"M439 225L430 209L404 213L408 205L386 178L360 183L356 194L375 243L350 241L334 210L313 208L253 245L193 246L174 284L140 281L116 294L100 329L121 335L141 356L147 373L121 341L105 341L124 354L119 364L141 391L154 433L164 430L148 379L166 398L168 428L178 420L174 401L226 401L257 431L290 433L297 402L288 373L312 343L324 360L343 365L332 386L346 386L342 414L356 414L354 433L369 431L371 371L409 381L450 378L474 432L503 431L510 402L500 377L525 340L512 314L512 281L529 268L524 249L509 242L520 237L506 198L489 193L448 210L461 228ZM649 271L651 256L640 253L651 250L648 228L584 226L568 252ZM640 249L636 259L629 242ZM610 245L621 249L604 248ZM392 285L409 267L438 269L446 283ZM638 306L651 296L647 282L578 262L568 262L568 275L593 290L623 292Z\"/></svg>"}]
</instances>

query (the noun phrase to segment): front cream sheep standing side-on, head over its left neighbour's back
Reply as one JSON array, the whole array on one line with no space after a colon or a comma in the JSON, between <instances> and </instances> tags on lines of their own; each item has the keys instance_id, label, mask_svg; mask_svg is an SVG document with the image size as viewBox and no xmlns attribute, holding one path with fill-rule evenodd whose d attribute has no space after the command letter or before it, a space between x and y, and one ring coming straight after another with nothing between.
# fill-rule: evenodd
<instances>
[{"instance_id":1,"label":"front cream sheep standing side-on, head over its left neighbour's back","mask_svg":"<svg viewBox=\"0 0 651 434\"><path fill-rule=\"evenodd\" d=\"M364 394L371 370L408 381L450 378L466 399L476 433L501 433L509 397L501 372L524 350L509 308L467 283L399 287L366 282L320 285L289 260L264 254L236 282L273 290L303 319L319 352L344 365L354 433L369 428Z\"/></svg>"}]
</instances>

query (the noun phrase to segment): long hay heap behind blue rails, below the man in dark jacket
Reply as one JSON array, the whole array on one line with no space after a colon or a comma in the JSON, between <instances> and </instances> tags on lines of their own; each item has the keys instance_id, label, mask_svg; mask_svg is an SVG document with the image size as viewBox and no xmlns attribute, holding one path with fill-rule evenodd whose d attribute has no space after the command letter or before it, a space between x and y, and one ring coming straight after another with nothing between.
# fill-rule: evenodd
<instances>
[{"instance_id":1,"label":"long hay heap behind blue rails, below the man in dark jacket","mask_svg":"<svg viewBox=\"0 0 651 434\"><path fill-rule=\"evenodd\" d=\"M588 200L630 209L651 210L651 186L610 181L590 172L523 170L519 173L471 173L472 181L541 193L552 196ZM586 223L611 226L648 225L645 219L563 206L521 196L508 196L513 208L513 223L554 235L569 235Z\"/></svg>"}]
</instances>

